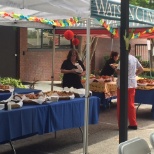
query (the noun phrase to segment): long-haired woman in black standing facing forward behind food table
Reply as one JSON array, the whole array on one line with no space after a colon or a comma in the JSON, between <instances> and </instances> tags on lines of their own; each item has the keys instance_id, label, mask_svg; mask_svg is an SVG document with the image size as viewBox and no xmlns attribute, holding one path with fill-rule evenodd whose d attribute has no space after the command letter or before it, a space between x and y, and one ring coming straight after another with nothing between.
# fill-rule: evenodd
<instances>
[{"instance_id":1,"label":"long-haired woman in black standing facing forward behind food table","mask_svg":"<svg viewBox=\"0 0 154 154\"><path fill-rule=\"evenodd\" d=\"M74 49L70 50L67 59L61 65L61 73L63 73L62 87L83 88L81 76L85 75L85 67L79 60L78 52Z\"/></svg>"}]
</instances>

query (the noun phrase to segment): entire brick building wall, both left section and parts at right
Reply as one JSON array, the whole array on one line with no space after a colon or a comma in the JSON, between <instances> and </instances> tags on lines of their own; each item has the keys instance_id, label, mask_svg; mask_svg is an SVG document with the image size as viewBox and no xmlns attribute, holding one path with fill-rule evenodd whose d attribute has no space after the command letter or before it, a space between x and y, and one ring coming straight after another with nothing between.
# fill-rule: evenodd
<instances>
[{"instance_id":1,"label":"entire brick building wall, both left section and parts at right","mask_svg":"<svg viewBox=\"0 0 154 154\"><path fill-rule=\"evenodd\" d=\"M131 41L132 51L135 44L146 44L146 39L134 39ZM19 77L22 81L48 81L52 74L52 49L28 49L27 48L27 28L20 28L20 63ZM114 39L113 50L120 52L119 39ZM91 62L92 69L101 69L103 57L109 55L111 51L111 39L99 38L96 52ZM54 80L60 80L60 67L66 59L68 50L55 51L55 74ZM132 54L134 54L132 52Z\"/></svg>"}]
</instances>

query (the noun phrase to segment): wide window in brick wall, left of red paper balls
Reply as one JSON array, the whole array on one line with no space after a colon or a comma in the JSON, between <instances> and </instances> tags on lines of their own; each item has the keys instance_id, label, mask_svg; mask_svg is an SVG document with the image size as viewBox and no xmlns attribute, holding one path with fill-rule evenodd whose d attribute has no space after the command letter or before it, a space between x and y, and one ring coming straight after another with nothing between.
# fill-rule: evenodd
<instances>
[{"instance_id":1,"label":"wide window in brick wall, left of red paper balls","mask_svg":"<svg viewBox=\"0 0 154 154\"><path fill-rule=\"evenodd\" d=\"M27 30L28 48L31 49L47 49L53 46L52 30L28 28ZM66 40L63 35L55 35L56 49L69 49L71 42Z\"/></svg>"}]
</instances>

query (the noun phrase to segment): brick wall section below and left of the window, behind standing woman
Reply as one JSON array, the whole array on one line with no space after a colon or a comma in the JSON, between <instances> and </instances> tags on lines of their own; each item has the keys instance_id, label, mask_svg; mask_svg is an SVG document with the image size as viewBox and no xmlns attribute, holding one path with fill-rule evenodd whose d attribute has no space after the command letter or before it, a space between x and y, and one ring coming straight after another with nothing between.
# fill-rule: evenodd
<instances>
[{"instance_id":1,"label":"brick wall section below and left of the window, behind standing woman","mask_svg":"<svg viewBox=\"0 0 154 154\"><path fill-rule=\"evenodd\" d=\"M60 66L68 50L55 52L55 80L60 80ZM51 80L52 50L28 49L27 28L20 28L20 79L22 81Z\"/></svg>"}]
</instances>

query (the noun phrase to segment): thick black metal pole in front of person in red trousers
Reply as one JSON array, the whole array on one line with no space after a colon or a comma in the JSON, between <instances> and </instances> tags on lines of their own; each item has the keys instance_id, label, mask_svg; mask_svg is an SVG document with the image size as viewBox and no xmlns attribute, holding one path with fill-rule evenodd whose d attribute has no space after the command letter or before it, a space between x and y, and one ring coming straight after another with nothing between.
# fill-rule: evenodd
<instances>
[{"instance_id":1,"label":"thick black metal pole in front of person in red trousers","mask_svg":"<svg viewBox=\"0 0 154 154\"><path fill-rule=\"evenodd\" d=\"M129 30L129 0L121 1L120 28L120 122L119 143L127 140L128 115L128 51L124 40L125 31Z\"/></svg>"}]
</instances>

